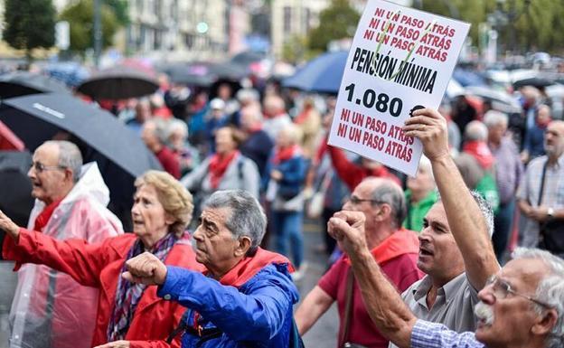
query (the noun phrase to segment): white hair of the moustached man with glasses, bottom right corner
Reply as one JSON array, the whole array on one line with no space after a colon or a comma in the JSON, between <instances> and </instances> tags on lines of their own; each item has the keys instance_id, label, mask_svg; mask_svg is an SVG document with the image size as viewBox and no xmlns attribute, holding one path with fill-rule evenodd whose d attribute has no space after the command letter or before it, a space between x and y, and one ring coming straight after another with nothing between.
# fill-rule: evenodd
<instances>
[{"instance_id":1,"label":"white hair of the moustached man with glasses, bottom right corner","mask_svg":"<svg viewBox=\"0 0 564 348\"><path fill-rule=\"evenodd\" d=\"M546 250L518 248L512 253L513 259L540 259L549 268L549 273L540 279L535 298L556 309L557 320L547 338L546 348L564 346L564 259L550 254ZM534 304L541 315L546 308Z\"/></svg>"}]
</instances>

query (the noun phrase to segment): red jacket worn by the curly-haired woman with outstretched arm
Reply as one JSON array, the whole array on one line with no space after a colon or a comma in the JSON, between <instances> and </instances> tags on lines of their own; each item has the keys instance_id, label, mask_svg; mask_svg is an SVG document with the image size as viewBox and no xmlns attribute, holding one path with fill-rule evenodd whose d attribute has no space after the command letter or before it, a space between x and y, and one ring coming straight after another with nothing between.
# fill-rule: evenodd
<instances>
[{"instance_id":1,"label":"red jacket worn by the curly-haired woman with outstretched arm","mask_svg":"<svg viewBox=\"0 0 564 348\"><path fill-rule=\"evenodd\" d=\"M20 229L17 245L11 238L5 239L3 254L5 259L16 261L16 269L26 262L44 264L69 274L83 286L99 288L98 314L92 339L92 346L97 346L107 343L106 332L115 303L118 278L135 240L134 234L127 233L98 244L89 244L85 240L54 240L40 232ZM164 263L204 269L196 262L188 239L174 244ZM146 287L136 307L125 337L131 342L131 348L167 347L164 341L185 311L177 302L156 296L156 289ZM174 341L173 346L179 347L180 342Z\"/></svg>"}]
</instances>

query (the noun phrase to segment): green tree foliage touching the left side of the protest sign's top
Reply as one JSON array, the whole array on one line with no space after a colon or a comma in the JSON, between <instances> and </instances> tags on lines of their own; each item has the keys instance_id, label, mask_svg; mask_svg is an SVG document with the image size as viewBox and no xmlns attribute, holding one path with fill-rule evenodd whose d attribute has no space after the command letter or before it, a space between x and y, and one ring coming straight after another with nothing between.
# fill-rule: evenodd
<instances>
[{"instance_id":1,"label":"green tree foliage touching the left side of the protest sign's top","mask_svg":"<svg viewBox=\"0 0 564 348\"><path fill-rule=\"evenodd\" d=\"M360 18L348 0L332 0L319 14L319 25L309 33L309 48L324 52L329 42L352 38Z\"/></svg>"}]
</instances>

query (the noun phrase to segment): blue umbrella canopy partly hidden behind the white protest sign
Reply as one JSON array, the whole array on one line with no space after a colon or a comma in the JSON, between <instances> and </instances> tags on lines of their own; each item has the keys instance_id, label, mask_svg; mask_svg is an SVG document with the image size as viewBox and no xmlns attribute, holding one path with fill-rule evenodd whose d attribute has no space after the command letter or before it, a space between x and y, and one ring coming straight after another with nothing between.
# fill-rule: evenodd
<instances>
[{"instance_id":1,"label":"blue umbrella canopy partly hidden behind the white protest sign","mask_svg":"<svg viewBox=\"0 0 564 348\"><path fill-rule=\"evenodd\" d=\"M296 71L282 86L311 92L337 94L349 52L325 53Z\"/></svg>"}]
</instances>

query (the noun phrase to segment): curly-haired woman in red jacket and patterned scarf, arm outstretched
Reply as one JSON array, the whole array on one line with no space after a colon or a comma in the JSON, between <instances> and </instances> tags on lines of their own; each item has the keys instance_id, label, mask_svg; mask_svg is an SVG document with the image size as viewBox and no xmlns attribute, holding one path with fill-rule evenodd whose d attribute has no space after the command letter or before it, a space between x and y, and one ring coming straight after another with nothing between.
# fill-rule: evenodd
<instances>
[{"instance_id":1,"label":"curly-haired woman in red jacket and patterned scarf, arm outstretched","mask_svg":"<svg viewBox=\"0 0 564 348\"><path fill-rule=\"evenodd\" d=\"M202 269L195 262L185 228L192 219L190 193L170 174L149 171L136 180L131 209L134 234L97 244L85 240L54 240L18 227L0 212L5 259L49 266L87 287L97 287L98 313L92 346L159 346L179 323L182 306L163 301L155 288L134 285L120 277L128 259L148 251L168 265ZM80 314L77 314L80 315ZM178 346L178 342L175 343Z\"/></svg>"}]
</instances>

